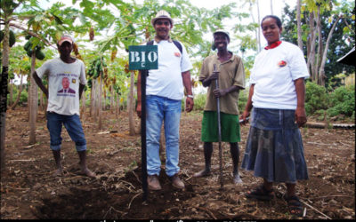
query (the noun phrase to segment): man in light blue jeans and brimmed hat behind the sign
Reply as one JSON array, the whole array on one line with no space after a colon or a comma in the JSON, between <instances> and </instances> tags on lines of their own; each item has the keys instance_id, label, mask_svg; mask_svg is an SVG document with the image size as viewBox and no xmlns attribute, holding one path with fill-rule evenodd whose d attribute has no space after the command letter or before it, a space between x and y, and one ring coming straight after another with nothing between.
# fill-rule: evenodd
<instances>
[{"instance_id":1,"label":"man in light blue jeans and brimmed hat behind the sign","mask_svg":"<svg viewBox=\"0 0 356 222\"><path fill-rule=\"evenodd\" d=\"M146 133L147 133L147 174L150 190L160 190L158 176L161 167L159 159L159 137L162 122L165 124L166 175L176 188L184 188L178 177L179 124L181 119L184 88L187 91L186 111L193 109L194 101L190 83L192 65L184 46L173 41L169 32L174 21L166 11L159 11L151 20L156 30L153 42L158 45L158 69L150 70L146 86ZM141 116L141 75L137 81L137 114Z\"/></svg>"}]
</instances>

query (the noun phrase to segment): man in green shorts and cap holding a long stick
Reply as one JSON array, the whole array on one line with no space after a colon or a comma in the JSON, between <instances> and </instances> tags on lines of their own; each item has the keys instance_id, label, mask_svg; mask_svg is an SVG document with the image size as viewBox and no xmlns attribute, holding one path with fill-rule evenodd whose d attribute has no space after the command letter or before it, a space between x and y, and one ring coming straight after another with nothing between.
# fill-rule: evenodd
<instances>
[{"instance_id":1,"label":"man in green shorts and cap holding a long stick","mask_svg":"<svg viewBox=\"0 0 356 222\"><path fill-rule=\"evenodd\" d=\"M229 33L217 30L213 34L213 49L217 53L206 57L200 69L199 81L208 87L206 93L206 107L201 129L201 140L204 142L204 158L206 167L195 173L196 178L211 174L211 156L213 142L218 142L217 99L220 98L221 136L222 141L230 143L232 157L232 175L235 184L242 183L239 177L239 91L245 89L245 71L242 59L228 51L230 43ZM216 67L216 70L214 70ZM216 89L215 80L219 82Z\"/></svg>"}]
</instances>

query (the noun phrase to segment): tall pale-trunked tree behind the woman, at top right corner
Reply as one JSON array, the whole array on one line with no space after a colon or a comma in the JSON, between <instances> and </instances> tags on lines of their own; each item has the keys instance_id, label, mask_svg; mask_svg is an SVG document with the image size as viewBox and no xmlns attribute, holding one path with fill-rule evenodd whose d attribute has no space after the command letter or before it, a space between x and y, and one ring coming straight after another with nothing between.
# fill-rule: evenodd
<instances>
[{"instance_id":1,"label":"tall pale-trunked tree behind the woman, at top right corner","mask_svg":"<svg viewBox=\"0 0 356 222\"><path fill-rule=\"evenodd\" d=\"M328 85L330 77L343 70L350 72L352 67L337 63L344 53L354 45L354 32L348 24L354 19L354 2L352 1L305 1L301 5L302 35L298 35L305 46L304 55L310 68L311 79L320 85ZM352 11L353 9L353 11ZM285 31L284 39L297 43L295 11L285 7L282 17ZM333 44L330 44L333 43Z\"/></svg>"}]
</instances>

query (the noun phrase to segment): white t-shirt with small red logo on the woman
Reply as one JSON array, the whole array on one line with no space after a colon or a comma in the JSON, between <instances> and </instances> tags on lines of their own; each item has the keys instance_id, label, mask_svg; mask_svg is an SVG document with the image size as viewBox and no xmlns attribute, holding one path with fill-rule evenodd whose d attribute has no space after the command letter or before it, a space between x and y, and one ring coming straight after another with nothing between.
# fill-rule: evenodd
<instances>
[{"instance_id":1,"label":"white t-shirt with small red logo on the woman","mask_svg":"<svg viewBox=\"0 0 356 222\"><path fill-rule=\"evenodd\" d=\"M282 42L263 50L256 56L250 76L250 84L255 84L253 107L295 109L294 81L308 77L303 52L295 44Z\"/></svg>"}]
</instances>

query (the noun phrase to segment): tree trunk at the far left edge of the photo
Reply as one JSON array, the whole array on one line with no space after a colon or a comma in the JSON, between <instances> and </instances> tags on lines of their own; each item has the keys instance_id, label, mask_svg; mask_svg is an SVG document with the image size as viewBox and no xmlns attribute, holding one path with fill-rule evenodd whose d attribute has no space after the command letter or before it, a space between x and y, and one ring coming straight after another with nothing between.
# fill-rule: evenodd
<instances>
[{"instance_id":1,"label":"tree trunk at the far left edge of the photo","mask_svg":"<svg viewBox=\"0 0 356 222\"><path fill-rule=\"evenodd\" d=\"M6 109L7 109L7 79L9 77L9 21L4 13L4 42L3 42L3 71L0 81L0 170L5 170L5 131L6 131Z\"/></svg>"}]
</instances>

